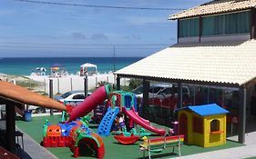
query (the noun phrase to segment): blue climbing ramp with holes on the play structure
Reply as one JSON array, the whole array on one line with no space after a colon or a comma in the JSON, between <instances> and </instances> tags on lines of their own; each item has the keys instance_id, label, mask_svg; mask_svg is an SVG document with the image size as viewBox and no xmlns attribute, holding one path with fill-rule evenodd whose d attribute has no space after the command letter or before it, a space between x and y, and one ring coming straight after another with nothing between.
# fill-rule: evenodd
<instances>
[{"instance_id":1,"label":"blue climbing ramp with holes on the play structure","mask_svg":"<svg viewBox=\"0 0 256 159\"><path fill-rule=\"evenodd\" d=\"M108 107L108 112L104 115L103 119L98 125L97 134L101 136L108 136L110 134L112 124L118 113L118 107L116 107L115 109L111 109L111 107Z\"/></svg>"}]
</instances>

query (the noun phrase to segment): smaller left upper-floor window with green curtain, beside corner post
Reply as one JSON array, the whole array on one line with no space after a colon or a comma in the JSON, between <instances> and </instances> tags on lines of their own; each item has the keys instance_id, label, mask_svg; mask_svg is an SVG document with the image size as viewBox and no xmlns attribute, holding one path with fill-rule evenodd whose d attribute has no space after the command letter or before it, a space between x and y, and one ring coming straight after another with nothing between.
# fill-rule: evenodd
<instances>
[{"instance_id":1,"label":"smaller left upper-floor window with green curtain, beside corner post","mask_svg":"<svg viewBox=\"0 0 256 159\"><path fill-rule=\"evenodd\" d=\"M200 35L199 18L179 20L179 37L191 37Z\"/></svg>"}]
</instances>

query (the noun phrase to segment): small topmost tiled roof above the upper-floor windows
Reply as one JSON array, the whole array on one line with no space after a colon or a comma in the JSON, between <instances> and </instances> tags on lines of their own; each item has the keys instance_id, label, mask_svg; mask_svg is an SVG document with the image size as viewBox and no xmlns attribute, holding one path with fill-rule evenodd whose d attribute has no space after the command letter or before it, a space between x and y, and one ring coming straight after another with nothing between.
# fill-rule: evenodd
<instances>
[{"instance_id":1,"label":"small topmost tiled roof above the upper-floor windows","mask_svg":"<svg viewBox=\"0 0 256 159\"><path fill-rule=\"evenodd\" d=\"M256 0L214 0L209 3L182 11L175 15L169 15L169 19L175 20L198 15L220 14L249 9L255 6Z\"/></svg>"}]
</instances>

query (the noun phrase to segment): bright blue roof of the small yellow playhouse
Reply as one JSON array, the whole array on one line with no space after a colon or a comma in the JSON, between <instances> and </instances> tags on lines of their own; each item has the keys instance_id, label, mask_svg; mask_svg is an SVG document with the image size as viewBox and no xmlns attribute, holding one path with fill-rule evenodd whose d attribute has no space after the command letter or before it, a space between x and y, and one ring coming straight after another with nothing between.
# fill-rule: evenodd
<instances>
[{"instance_id":1,"label":"bright blue roof of the small yellow playhouse","mask_svg":"<svg viewBox=\"0 0 256 159\"><path fill-rule=\"evenodd\" d=\"M207 116L211 114L227 114L229 111L220 107L218 104L203 104L203 105L193 105L187 106L182 109L189 109L190 111L200 114L201 116Z\"/></svg>"}]
</instances>

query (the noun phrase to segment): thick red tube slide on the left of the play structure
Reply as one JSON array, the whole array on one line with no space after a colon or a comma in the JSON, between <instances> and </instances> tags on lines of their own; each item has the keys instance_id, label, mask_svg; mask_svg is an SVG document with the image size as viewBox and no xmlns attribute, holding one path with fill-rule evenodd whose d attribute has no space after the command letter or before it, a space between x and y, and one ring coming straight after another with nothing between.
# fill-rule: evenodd
<instances>
[{"instance_id":1,"label":"thick red tube slide on the left of the play structure","mask_svg":"<svg viewBox=\"0 0 256 159\"><path fill-rule=\"evenodd\" d=\"M72 112L70 113L70 117L67 122L71 122L73 120L76 120L78 117L84 116L91 112L93 109L96 108L98 104L101 104L105 101L105 99L108 98L108 94L110 92L109 85L104 85L89 95L84 102L81 104L78 104L77 107L75 107Z\"/></svg>"}]
</instances>

